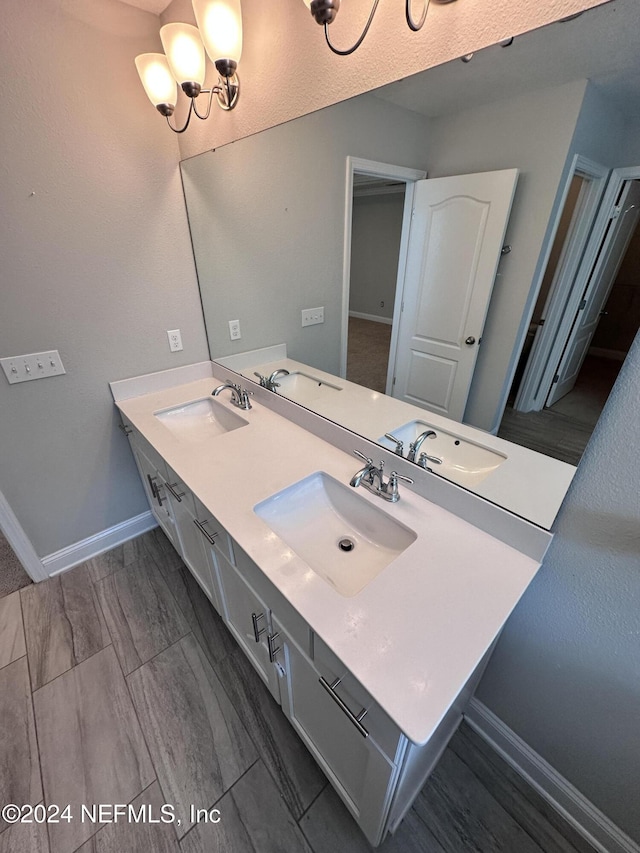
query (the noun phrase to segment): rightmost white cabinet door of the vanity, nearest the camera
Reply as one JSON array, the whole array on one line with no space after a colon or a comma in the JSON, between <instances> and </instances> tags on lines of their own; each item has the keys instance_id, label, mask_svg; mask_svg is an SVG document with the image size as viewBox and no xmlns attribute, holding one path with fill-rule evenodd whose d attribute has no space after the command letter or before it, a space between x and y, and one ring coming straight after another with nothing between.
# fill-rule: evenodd
<instances>
[{"instance_id":1,"label":"rightmost white cabinet door of the vanity, nearest the camera","mask_svg":"<svg viewBox=\"0 0 640 853\"><path fill-rule=\"evenodd\" d=\"M335 695L342 704L336 701L311 661L287 642L279 628L274 621L281 646L278 659L284 659L287 673L282 708L367 839L377 845L385 830L397 768L367 736L366 716L361 726L356 724L361 709L349 709L351 699L340 696L339 686Z\"/></svg>"}]
</instances>

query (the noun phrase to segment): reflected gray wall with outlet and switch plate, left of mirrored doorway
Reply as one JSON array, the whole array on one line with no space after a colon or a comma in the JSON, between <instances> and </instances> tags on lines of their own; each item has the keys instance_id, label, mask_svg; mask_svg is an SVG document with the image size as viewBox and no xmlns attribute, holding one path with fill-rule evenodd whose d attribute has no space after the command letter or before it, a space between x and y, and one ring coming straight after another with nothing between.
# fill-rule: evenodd
<instances>
[{"instance_id":1,"label":"reflected gray wall with outlet and switch plate, left of mirrored doorway","mask_svg":"<svg viewBox=\"0 0 640 853\"><path fill-rule=\"evenodd\" d=\"M426 118L362 95L183 163L211 355L286 341L337 374L346 158L424 169L428 148ZM317 306L325 322L302 328Z\"/></svg>"}]
</instances>

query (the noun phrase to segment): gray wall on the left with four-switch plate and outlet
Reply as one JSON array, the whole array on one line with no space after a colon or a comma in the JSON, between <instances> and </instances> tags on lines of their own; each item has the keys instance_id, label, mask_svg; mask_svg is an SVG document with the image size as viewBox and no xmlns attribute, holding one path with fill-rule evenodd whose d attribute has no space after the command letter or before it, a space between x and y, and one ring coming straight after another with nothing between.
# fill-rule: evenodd
<instances>
[{"instance_id":1,"label":"gray wall on the left with four-switch plate and outlet","mask_svg":"<svg viewBox=\"0 0 640 853\"><path fill-rule=\"evenodd\" d=\"M207 357L177 143L133 64L157 33L107 0L2 6L0 355L67 370L0 376L0 491L40 556L148 509L107 383Z\"/></svg>"}]
</instances>

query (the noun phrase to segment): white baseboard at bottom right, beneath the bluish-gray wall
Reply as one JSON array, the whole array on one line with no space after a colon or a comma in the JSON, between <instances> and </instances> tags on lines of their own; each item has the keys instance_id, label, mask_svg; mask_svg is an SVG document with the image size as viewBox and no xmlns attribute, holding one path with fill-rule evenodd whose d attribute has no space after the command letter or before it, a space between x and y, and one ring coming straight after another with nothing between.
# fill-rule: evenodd
<instances>
[{"instance_id":1,"label":"white baseboard at bottom right, beneath the bluish-gray wall","mask_svg":"<svg viewBox=\"0 0 640 853\"><path fill-rule=\"evenodd\" d=\"M600 853L640 853L640 846L526 744L499 717L472 699L465 720Z\"/></svg>"}]
</instances>

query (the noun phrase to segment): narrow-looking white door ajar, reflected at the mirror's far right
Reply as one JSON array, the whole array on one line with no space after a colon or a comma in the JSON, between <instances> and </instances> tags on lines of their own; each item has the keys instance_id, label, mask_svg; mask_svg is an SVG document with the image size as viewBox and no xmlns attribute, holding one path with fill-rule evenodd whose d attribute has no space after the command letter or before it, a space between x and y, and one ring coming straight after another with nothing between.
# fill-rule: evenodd
<instances>
[{"instance_id":1,"label":"narrow-looking white door ajar, reflected at the mirror's far right","mask_svg":"<svg viewBox=\"0 0 640 853\"><path fill-rule=\"evenodd\" d=\"M617 215L605 235L562 354L545 406L553 406L576 384L582 362L600 322L601 311L640 219L640 181L628 181L616 203Z\"/></svg>"}]
</instances>

